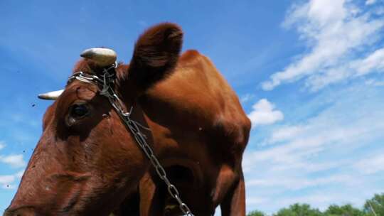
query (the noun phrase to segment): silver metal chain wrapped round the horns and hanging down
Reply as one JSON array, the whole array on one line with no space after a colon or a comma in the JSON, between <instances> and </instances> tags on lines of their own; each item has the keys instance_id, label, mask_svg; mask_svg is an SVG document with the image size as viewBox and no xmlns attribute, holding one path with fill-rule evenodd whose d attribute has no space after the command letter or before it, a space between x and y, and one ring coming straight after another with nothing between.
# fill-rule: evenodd
<instances>
[{"instance_id":1,"label":"silver metal chain wrapped round the horns and hanging down","mask_svg":"<svg viewBox=\"0 0 384 216\"><path fill-rule=\"evenodd\" d=\"M117 96L117 94L114 92L111 84L114 82L114 73L110 73L110 69L117 68L117 63L114 63L114 65L111 66L111 68L105 69L104 74L102 75L102 79L97 77L96 75L89 75L82 71L75 72L72 76L68 78L68 83L72 82L73 80L79 80L80 82L87 82L87 83L93 83L97 85L97 87L100 88L100 95L104 95L108 98L110 101L110 104L112 104L112 107L116 110L117 114L119 114L119 117L124 122L125 126L129 129L129 131L132 132L134 135L134 139L136 140L137 144L139 144L140 148L142 148L142 151L144 151L147 158L149 158L149 161L151 161L152 166L154 166L156 173L159 175L161 180L166 183L166 186L168 188L168 192L171 195L172 198L174 198L178 202L178 207L180 208L181 212L183 212L184 215L187 216L193 216L191 210L189 207L184 203L180 195L178 193L177 188L175 185L173 185L169 178L166 176L166 171L164 170L164 167L161 166L161 163L154 155L154 151L152 150L151 146L146 142L146 136L145 134L140 131L140 128L150 130L143 126L142 124L139 124L139 122L134 121L130 118L130 115L132 114L132 109L129 110L129 112L124 112L124 103L121 99Z\"/></svg>"}]
</instances>

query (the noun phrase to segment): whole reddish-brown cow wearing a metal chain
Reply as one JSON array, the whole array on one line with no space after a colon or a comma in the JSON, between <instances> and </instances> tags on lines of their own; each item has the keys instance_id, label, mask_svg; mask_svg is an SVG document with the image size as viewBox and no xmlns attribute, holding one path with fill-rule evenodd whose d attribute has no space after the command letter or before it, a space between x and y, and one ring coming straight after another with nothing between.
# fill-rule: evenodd
<instances>
[{"instance_id":1,"label":"whole reddish-brown cow wearing a metal chain","mask_svg":"<svg viewBox=\"0 0 384 216\"><path fill-rule=\"evenodd\" d=\"M196 51L178 58L181 43L174 24L149 28L131 63L116 69L114 89L126 107L134 106L132 119L151 129L149 144L195 215L210 215L219 204L223 215L245 215L241 161L250 121L210 60ZM100 75L106 65L99 55L85 55L74 72ZM137 205L141 215L179 215L98 91L70 82L48 108L41 140L4 215L108 215L115 209L136 215Z\"/></svg>"}]
</instances>

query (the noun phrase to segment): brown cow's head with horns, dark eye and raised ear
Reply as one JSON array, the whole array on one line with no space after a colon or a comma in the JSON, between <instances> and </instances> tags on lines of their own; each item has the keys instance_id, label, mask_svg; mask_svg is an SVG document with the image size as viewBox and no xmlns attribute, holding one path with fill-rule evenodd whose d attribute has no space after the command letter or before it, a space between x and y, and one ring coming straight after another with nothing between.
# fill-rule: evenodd
<instances>
[{"instance_id":1,"label":"brown cow's head with horns, dark eye and raised ear","mask_svg":"<svg viewBox=\"0 0 384 216\"><path fill-rule=\"evenodd\" d=\"M135 100L173 70L181 43L178 26L159 24L139 37L130 64L117 67L114 88L126 107L134 106L135 121L145 125ZM114 61L113 53L87 50L74 72L97 75ZM108 215L137 188L149 161L99 91L75 80L63 92L45 95L57 99L4 215ZM146 136L151 144L149 131Z\"/></svg>"}]
</instances>

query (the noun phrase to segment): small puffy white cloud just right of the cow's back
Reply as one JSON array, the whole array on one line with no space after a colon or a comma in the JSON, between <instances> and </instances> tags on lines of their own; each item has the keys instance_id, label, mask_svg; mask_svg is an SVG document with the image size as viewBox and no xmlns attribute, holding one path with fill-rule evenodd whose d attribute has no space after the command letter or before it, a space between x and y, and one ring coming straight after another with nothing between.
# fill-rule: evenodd
<instances>
[{"instance_id":1,"label":"small puffy white cloud just right of the cow's back","mask_svg":"<svg viewBox=\"0 0 384 216\"><path fill-rule=\"evenodd\" d=\"M279 110L274 110L274 104L267 99L260 99L253 104L252 112L248 114L252 121L252 126L274 124L277 121L284 119L284 114Z\"/></svg>"}]
</instances>

